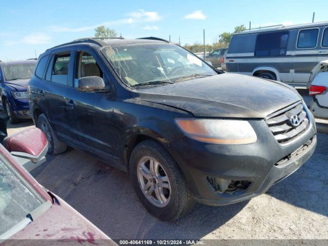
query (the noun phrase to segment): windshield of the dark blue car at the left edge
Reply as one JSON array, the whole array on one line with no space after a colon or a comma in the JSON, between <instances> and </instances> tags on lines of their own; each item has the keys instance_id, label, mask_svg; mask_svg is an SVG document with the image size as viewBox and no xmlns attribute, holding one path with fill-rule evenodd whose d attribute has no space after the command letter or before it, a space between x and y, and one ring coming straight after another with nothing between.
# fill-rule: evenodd
<instances>
[{"instance_id":1,"label":"windshield of the dark blue car at the left edge","mask_svg":"<svg viewBox=\"0 0 328 246\"><path fill-rule=\"evenodd\" d=\"M36 63L7 64L3 65L6 80L31 78Z\"/></svg>"}]
</instances>

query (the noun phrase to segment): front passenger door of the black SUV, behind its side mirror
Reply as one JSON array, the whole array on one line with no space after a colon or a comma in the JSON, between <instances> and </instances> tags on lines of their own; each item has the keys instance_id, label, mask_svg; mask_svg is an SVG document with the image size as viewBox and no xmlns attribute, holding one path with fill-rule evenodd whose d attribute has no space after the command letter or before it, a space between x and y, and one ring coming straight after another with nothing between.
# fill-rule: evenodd
<instances>
[{"instance_id":1,"label":"front passenger door of the black SUV, behind its side mirror","mask_svg":"<svg viewBox=\"0 0 328 246\"><path fill-rule=\"evenodd\" d=\"M113 104L107 93L79 92L78 79L99 76L108 84L109 77L96 53L88 48L76 50L74 83L69 88L69 99L74 103L73 115L77 126L79 144L98 156L118 156L118 124L113 120Z\"/></svg>"}]
</instances>

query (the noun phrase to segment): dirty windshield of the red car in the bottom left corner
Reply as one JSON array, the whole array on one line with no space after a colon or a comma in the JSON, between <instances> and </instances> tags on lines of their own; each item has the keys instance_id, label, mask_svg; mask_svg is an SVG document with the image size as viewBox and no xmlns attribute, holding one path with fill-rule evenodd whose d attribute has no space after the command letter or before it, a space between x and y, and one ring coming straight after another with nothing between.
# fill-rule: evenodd
<instances>
[{"instance_id":1,"label":"dirty windshield of the red car in the bottom left corner","mask_svg":"<svg viewBox=\"0 0 328 246\"><path fill-rule=\"evenodd\" d=\"M26 218L41 202L0 159L0 235Z\"/></svg>"}]
</instances>

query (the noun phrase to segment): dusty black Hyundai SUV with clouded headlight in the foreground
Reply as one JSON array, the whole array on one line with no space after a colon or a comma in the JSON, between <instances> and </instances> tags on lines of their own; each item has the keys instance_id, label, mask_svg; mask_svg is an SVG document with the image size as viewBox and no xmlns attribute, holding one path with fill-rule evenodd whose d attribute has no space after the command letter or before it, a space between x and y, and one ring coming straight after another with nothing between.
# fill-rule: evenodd
<instances>
[{"instance_id":1,"label":"dusty black Hyundai SUV with clouded headlight in the foreground","mask_svg":"<svg viewBox=\"0 0 328 246\"><path fill-rule=\"evenodd\" d=\"M141 203L163 220L195 201L262 194L316 146L313 116L295 89L224 73L155 37L84 38L47 50L29 103L49 154L70 146L128 172Z\"/></svg>"}]
</instances>

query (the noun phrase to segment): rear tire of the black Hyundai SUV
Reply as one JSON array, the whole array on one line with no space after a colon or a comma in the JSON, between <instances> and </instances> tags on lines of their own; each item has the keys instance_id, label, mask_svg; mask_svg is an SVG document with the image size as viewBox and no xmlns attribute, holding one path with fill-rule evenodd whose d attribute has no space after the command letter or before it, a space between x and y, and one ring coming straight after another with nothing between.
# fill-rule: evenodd
<instances>
[{"instance_id":1,"label":"rear tire of the black Hyundai SUV","mask_svg":"<svg viewBox=\"0 0 328 246\"><path fill-rule=\"evenodd\" d=\"M66 151L67 145L58 140L45 114L39 115L36 127L46 134L48 140L48 154L57 155Z\"/></svg>"}]
</instances>

